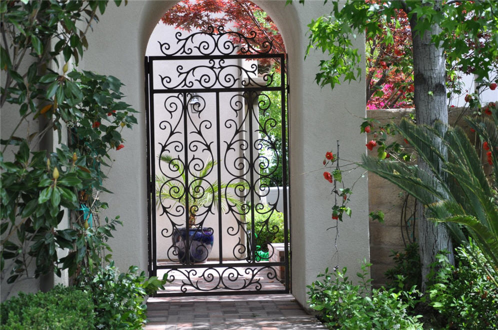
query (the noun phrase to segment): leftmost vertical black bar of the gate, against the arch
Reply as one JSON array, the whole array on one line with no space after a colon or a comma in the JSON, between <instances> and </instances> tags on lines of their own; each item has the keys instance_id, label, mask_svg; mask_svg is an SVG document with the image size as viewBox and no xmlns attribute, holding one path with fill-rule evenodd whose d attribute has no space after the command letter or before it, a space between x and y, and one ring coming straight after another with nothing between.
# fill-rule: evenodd
<instances>
[{"instance_id":1,"label":"leftmost vertical black bar of the gate, against the arch","mask_svg":"<svg viewBox=\"0 0 498 330\"><path fill-rule=\"evenodd\" d=\"M143 70L145 72L145 81L144 81L144 89L145 89L145 128L146 128L146 140L147 140L147 148L146 158L147 158L147 257L148 257L148 265L147 271L148 276L154 276L153 271L155 267L152 266L152 240L151 240L151 230L152 226L152 218L151 218L151 198L152 198L152 181L150 180L150 118L149 118L149 95L148 95L148 57L145 56L143 60Z\"/></svg>"}]
</instances>

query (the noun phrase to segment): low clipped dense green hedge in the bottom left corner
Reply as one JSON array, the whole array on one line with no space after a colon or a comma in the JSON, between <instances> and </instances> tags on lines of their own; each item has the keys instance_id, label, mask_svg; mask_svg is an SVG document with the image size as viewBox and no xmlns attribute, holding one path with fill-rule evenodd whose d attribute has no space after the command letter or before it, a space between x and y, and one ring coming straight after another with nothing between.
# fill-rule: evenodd
<instances>
[{"instance_id":1,"label":"low clipped dense green hedge in the bottom left corner","mask_svg":"<svg viewBox=\"0 0 498 330\"><path fill-rule=\"evenodd\" d=\"M93 302L88 293L56 286L47 293L19 293L1 304L1 329L93 328Z\"/></svg>"}]
</instances>

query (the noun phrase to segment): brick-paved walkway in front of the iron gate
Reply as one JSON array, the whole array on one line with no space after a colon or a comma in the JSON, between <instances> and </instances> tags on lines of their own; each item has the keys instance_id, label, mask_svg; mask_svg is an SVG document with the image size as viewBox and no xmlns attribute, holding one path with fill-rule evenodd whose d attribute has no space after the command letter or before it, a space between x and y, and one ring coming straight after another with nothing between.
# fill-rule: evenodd
<instances>
[{"instance_id":1,"label":"brick-paved walkway in front of the iron gate","mask_svg":"<svg viewBox=\"0 0 498 330\"><path fill-rule=\"evenodd\" d=\"M326 329L291 295L149 298L145 330Z\"/></svg>"}]
</instances>

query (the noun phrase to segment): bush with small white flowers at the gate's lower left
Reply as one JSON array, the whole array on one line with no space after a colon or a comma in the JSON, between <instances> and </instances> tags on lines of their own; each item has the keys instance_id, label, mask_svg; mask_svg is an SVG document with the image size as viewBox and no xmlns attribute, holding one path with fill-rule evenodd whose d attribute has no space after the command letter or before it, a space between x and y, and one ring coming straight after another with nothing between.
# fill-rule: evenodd
<instances>
[{"instance_id":1,"label":"bush with small white flowers at the gate's lower left","mask_svg":"<svg viewBox=\"0 0 498 330\"><path fill-rule=\"evenodd\" d=\"M165 281L137 272L138 267L131 266L128 272L119 273L111 262L89 282L81 284L93 297L97 329L141 329L145 324L145 296L164 289Z\"/></svg>"}]
</instances>

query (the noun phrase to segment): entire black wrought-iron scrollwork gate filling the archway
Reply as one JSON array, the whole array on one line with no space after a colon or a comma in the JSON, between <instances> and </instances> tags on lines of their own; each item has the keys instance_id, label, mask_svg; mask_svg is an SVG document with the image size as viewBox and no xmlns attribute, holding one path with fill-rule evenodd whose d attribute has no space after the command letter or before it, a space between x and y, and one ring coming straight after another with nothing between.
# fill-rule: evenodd
<instances>
[{"instance_id":1,"label":"entire black wrought-iron scrollwork gate filling the archway","mask_svg":"<svg viewBox=\"0 0 498 330\"><path fill-rule=\"evenodd\" d=\"M170 280L156 295L288 293L288 192L265 202L275 165L288 186L285 55L222 28L175 39L145 57L149 274Z\"/></svg>"}]
</instances>

